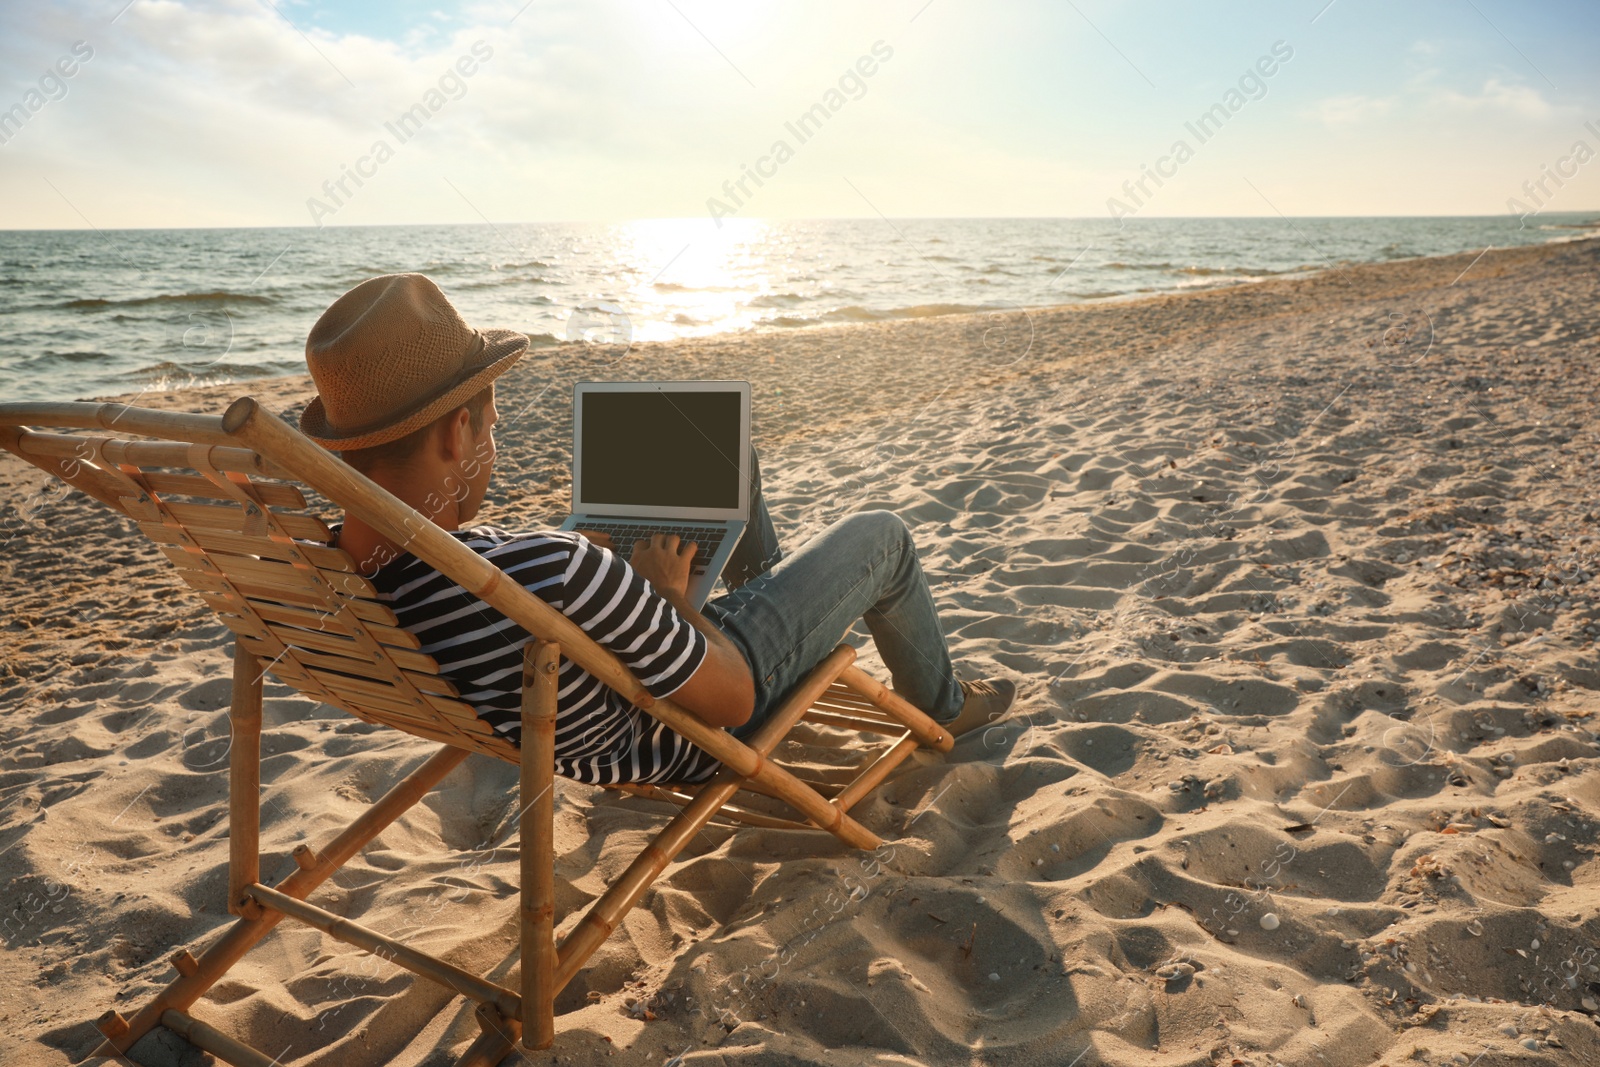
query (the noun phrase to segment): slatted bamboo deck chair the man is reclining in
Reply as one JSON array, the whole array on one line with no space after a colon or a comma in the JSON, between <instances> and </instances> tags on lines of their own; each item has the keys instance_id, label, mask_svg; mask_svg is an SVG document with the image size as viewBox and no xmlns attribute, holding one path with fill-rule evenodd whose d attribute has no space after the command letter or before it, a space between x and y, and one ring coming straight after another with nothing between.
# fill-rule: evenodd
<instances>
[{"instance_id":1,"label":"slatted bamboo deck chair the man is reclining in","mask_svg":"<svg viewBox=\"0 0 1600 1067\"><path fill-rule=\"evenodd\" d=\"M58 432L74 429L114 430L117 437ZM155 440L130 440L123 437L128 434ZM179 949L171 957L178 977L131 1019L115 1009L101 1016L96 1025L106 1043L98 1051L104 1056L122 1056L154 1027L166 1025L235 1067L275 1064L192 1009L283 918L381 952L392 963L477 1001L482 1032L459 1061L462 1065L498 1064L518 1040L525 1048L549 1048L555 1037L555 995L709 819L822 829L853 848L875 848L878 837L850 817L851 806L918 745L947 752L954 742L938 723L854 667L848 645L835 648L747 744L739 742L672 701L651 697L616 656L560 611L250 397L235 400L222 416L112 403L6 403L0 405L0 446L128 515L235 635L227 907L238 920L198 958ZM328 528L306 512L306 498L293 482L315 488L346 512L360 514L533 635L523 659L520 749L456 699L437 662L418 651L419 641L411 633L397 627L394 613L376 600L350 557L326 547ZM675 800L682 809L557 942L552 821L555 677L562 656L715 755L722 769L688 792L629 789ZM277 886L259 878L264 670L360 720L443 744L331 841L320 848L296 846L296 870ZM768 760L802 720L894 741L872 753L848 785L826 797ZM522 966L515 989L306 901L474 752L520 766ZM741 789L786 801L798 819L728 806Z\"/></svg>"}]
</instances>

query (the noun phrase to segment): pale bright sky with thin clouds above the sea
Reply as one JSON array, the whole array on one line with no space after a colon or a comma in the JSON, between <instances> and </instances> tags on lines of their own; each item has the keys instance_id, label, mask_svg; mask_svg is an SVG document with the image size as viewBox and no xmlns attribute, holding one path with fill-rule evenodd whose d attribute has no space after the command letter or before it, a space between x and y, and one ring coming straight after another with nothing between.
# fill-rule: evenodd
<instances>
[{"instance_id":1,"label":"pale bright sky with thin clouds above the sea","mask_svg":"<svg viewBox=\"0 0 1600 1067\"><path fill-rule=\"evenodd\" d=\"M1597 45L1578 0L6 3L0 229L1589 211Z\"/></svg>"}]
</instances>

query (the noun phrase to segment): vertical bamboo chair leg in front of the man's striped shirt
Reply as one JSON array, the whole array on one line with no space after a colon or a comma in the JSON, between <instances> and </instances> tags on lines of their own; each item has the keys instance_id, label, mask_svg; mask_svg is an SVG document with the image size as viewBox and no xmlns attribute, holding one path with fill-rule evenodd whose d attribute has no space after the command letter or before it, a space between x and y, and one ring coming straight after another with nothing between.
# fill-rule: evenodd
<instances>
[{"instance_id":1,"label":"vertical bamboo chair leg in front of the man's striped shirt","mask_svg":"<svg viewBox=\"0 0 1600 1067\"><path fill-rule=\"evenodd\" d=\"M522 667L522 1045L555 1041L555 680L562 649L530 641Z\"/></svg>"}]
</instances>

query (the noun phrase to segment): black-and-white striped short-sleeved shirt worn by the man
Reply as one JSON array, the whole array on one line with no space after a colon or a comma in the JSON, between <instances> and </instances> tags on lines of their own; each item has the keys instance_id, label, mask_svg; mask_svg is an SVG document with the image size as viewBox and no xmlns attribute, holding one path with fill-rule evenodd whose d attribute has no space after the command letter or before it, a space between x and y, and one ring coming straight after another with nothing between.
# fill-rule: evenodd
<instances>
[{"instance_id":1,"label":"black-and-white striped short-sleeved shirt worn by the man","mask_svg":"<svg viewBox=\"0 0 1600 1067\"><path fill-rule=\"evenodd\" d=\"M651 696L675 693L706 659L706 635L610 549L566 531L472 526L451 536L616 653ZM461 699L520 742L528 632L410 553L379 568L371 582ZM717 769L709 753L573 661L562 659L557 680L557 774L608 785L696 782Z\"/></svg>"}]
</instances>

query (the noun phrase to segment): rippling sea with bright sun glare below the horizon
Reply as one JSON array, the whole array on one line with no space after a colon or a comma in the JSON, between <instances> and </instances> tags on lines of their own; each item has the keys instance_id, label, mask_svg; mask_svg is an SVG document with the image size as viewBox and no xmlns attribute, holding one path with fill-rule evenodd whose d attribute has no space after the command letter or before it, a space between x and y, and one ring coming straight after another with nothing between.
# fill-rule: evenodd
<instances>
[{"instance_id":1,"label":"rippling sea with bright sun glare below the horizon","mask_svg":"<svg viewBox=\"0 0 1600 1067\"><path fill-rule=\"evenodd\" d=\"M0 398L301 374L328 304L410 270L474 326L619 346L1014 314L1600 235L1595 213L720 222L5 230Z\"/></svg>"}]
</instances>

